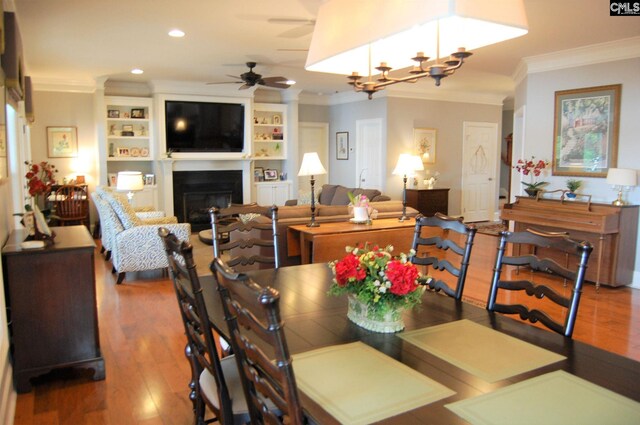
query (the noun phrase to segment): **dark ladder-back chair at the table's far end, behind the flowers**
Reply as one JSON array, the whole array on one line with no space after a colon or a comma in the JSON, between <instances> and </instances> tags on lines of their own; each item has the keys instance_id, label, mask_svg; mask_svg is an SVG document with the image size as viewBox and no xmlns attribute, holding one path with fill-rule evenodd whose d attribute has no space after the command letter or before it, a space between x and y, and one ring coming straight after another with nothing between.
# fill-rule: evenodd
<instances>
[{"instance_id":1,"label":"dark ladder-back chair at the table's far end, behind the flowers","mask_svg":"<svg viewBox=\"0 0 640 425\"><path fill-rule=\"evenodd\" d=\"M211 208L213 256L238 271L278 268L278 207L257 204Z\"/></svg>"}]
</instances>

